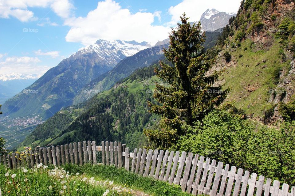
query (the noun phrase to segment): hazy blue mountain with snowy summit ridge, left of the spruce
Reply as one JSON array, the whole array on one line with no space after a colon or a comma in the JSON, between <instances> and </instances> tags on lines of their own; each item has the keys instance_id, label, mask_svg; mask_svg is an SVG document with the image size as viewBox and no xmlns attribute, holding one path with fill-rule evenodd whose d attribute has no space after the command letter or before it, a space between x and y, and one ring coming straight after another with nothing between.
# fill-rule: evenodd
<instances>
[{"instance_id":1,"label":"hazy blue mountain with snowy summit ridge, left of the spruce","mask_svg":"<svg viewBox=\"0 0 295 196\"><path fill-rule=\"evenodd\" d=\"M42 77L2 105L4 115L40 115L47 119L73 98L90 81L114 68L122 59L148 48L148 43L106 41L77 51L48 70Z\"/></svg>"}]
</instances>

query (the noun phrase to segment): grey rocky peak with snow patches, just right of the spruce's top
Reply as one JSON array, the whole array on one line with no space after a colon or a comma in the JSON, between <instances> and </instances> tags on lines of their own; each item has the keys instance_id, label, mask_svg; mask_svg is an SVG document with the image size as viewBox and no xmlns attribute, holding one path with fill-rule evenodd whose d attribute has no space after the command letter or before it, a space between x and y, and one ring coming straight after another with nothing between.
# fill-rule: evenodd
<instances>
[{"instance_id":1,"label":"grey rocky peak with snow patches, just right of the spruce's top","mask_svg":"<svg viewBox=\"0 0 295 196\"><path fill-rule=\"evenodd\" d=\"M215 31L228 25L228 20L235 13L220 12L216 9L207 9L201 16L200 22L204 31Z\"/></svg>"}]
</instances>

